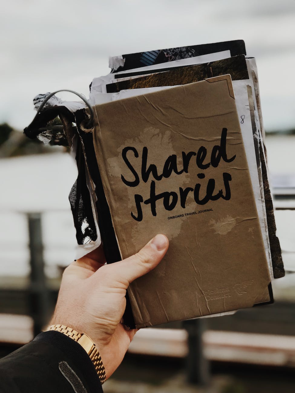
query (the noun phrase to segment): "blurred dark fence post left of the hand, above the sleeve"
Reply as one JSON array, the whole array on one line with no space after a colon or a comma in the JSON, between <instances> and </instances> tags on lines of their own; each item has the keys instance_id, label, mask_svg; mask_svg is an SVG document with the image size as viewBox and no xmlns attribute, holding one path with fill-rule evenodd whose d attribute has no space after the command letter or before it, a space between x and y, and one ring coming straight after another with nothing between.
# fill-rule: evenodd
<instances>
[{"instance_id":1,"label":"blurred dark fence post left of the hand, above the sleeve","mask_svg":"<svg viewBox=\"0 0 295 393\"><path fill-rule=\"evenodd\" d=\"M28 213L27 217L31 267L29 308L34 321L33 334L36 336L47 322L50 304L44 272L41 213Z\"/></svg>"}]
</instances>

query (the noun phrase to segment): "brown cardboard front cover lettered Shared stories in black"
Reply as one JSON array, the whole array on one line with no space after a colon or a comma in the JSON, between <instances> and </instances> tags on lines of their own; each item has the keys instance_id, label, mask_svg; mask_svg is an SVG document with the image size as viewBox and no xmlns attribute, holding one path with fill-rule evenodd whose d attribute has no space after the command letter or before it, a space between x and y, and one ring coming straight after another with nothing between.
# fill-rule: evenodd
<instances>
[{"instance_id":1,"label":"brown cardboard front cover lettered Shared stories in black","mask_svg":"<svg viewBox=\"0 0 295 393\"><path fill-rule=\"evenodd\" d=\"M225 76L214 79L95 107L94 148L122 258L157 233L170 240L159 266L129 287L136 327L270 300L269 271L231 81ZM143 179L145 147L146 167L154 164L157 174ZM211 158L212 149L220 161ZM199 167L191 154L182 171L182 152L197 153ZM166 177L160 176L165 162ZM157 175L162 178L155 180ZM210 185L215 185L214 191ZM165 193L170 209L160 198L156 216L148 203L153 187L156 195ZM180 188L188 193L183 206ZM213 197L201 204L207 193ZM146 201L140 203L141 221L131 216L140 218L135 198Z\"/></svg>"}]
</instances>

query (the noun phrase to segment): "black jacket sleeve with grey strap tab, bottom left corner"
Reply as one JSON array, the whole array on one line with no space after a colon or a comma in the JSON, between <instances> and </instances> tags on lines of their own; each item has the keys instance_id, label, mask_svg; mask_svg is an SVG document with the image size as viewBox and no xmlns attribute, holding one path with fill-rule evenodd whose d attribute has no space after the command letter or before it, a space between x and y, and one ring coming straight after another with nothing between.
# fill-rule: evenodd
<instances>
[{"instance_id":1,"label":"black jacket sleeve with grey strap tab, bottom left corner","mask_svg":"<svg viewBox=\"0 0 295 393\"><path fill-rule=\"evenodd\" d=\"M88 354L65 334L43 332L0 359L1 393L103 393Z\"/></svg>"}]
</instances>

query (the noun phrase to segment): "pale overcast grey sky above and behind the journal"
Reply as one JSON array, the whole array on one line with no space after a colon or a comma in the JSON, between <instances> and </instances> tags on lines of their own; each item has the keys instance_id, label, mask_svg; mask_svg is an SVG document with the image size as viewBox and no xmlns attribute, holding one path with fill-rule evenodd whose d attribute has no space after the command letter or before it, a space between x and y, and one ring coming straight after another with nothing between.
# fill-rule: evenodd
<instances>
[{"instance_id":1,"label":"pale overcast grey sky above and behind the journal","mask_svg":"<svg viewBox=\"0 0 295 393\"><path fill-rule=\"evenodd\" d=\"M0 29L0 122L18 129L36 94L88 96L109 55L234 39L256 57L265 129L295 128L295 0L9 0Z\"/></svg>"}]
</instances>

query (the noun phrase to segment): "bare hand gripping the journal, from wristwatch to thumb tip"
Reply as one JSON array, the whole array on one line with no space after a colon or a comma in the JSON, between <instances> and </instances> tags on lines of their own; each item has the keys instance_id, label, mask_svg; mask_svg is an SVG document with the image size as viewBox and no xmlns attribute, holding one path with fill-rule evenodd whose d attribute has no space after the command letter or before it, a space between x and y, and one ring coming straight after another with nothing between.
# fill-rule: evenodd
<instances>
[{"instance_id":1,"label":"bare hand gripping the journal, from wristwatch to thumb tip","mask_svg":"<svg viewBox=\"0 0 295 393\"><path fill-rule=\"evenodd\" d=\"M126 289L157 266L168 245L166 236L157 235L135 255L109 265L100 246L65 269L51 324L87 334L98 348L106 378L122 362L136 332L120 323Z\"/></svg>"}]
</instances>

